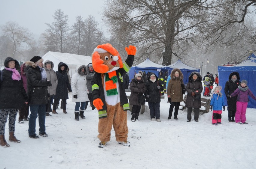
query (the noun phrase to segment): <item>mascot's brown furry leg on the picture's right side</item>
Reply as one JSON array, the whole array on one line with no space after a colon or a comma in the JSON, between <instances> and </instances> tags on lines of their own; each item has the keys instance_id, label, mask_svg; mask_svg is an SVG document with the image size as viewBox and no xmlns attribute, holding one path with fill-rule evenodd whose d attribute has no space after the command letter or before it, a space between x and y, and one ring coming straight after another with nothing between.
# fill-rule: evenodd
<instances>
[{"instance_id":1,"label":"mascot's brown furry leg on the picture's right side","mask_svg":"<svg viewBox=\"0 0 256 169\"><path fill-rule=\"evenodd\" d=\"M109 110L109 109L108 109ZM113 106L115 112L113 127L116 133L116 141L123 142L127 141L128 127L127 127L127 112L123 111L123 106L120 102Z\"/></svg>"}]
</instances>

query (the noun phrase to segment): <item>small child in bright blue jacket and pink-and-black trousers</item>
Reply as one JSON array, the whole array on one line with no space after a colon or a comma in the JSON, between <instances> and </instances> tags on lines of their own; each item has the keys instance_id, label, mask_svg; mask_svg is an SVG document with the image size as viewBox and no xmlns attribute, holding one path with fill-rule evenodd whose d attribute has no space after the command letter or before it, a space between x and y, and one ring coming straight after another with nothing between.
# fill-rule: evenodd
<instances>
[{"instance_id":1,"label":"small child in bright blue jacket and pink-and-black trousers","mask_svg":"<svg viewBox=\"0 0 256 169\"><path fill-rule=\"evenodd\" d=\"M221 86L216 86L214 89L214 93L212 94L212 99L210 103L210 108L212 111L212 124L217 125L221 124L221 113L222 108L225 111L224 98L221 94Z\"/></svg>"}]
</instances>

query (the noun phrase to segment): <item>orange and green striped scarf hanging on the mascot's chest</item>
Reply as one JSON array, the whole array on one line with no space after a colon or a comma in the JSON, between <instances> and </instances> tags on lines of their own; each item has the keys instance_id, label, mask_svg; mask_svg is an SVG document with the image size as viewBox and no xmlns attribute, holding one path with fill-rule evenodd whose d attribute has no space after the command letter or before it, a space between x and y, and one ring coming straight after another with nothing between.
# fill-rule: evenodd
<instances>
[{"instance_id":1,"label":"orange and green striped scarf hanging on the mascot's chest","mask_svg":"<svg viewBox=\"0 0 256 169\"><path fill-rule=\"evenodd\" d=\"M115 84L116 82L117 82L116 71L105 73L105 85L106 85L107 96L118 95L117 85Z\"/></svg>"}]
</instances>

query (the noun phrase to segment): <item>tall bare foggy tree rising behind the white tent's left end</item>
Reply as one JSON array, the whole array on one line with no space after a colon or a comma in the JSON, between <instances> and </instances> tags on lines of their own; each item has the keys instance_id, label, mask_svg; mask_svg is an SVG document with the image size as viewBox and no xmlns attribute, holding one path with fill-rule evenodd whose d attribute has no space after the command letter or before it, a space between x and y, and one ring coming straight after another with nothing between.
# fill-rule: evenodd
<instances>
[{"instance_id":1,"label":"tall bare foggy tree rising behind the white tent's left end","mask_svg":"<svg viewBox=\"0 0 256 169\"><path fill-rule=\"evenodd\" d=\"M44 34L45 46L51 48L49 45L56 47L55 52L64 52L64 46L69 34L68 15L64 15L61 9L57 9L53 15L54 22L45 23L48 26L46 33ZM49 38L52 38L50 40Z\"/></svg>"}]
</instances>

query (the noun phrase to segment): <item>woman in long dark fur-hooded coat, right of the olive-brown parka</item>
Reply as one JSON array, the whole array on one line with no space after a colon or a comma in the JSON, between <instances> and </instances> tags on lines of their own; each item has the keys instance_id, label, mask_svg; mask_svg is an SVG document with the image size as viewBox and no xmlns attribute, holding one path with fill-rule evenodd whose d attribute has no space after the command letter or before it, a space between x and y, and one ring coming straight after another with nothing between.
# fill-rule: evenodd
<instances>
[{"instance_id":1,"label":"woman in long dark fur-hooded coat, right of the olive-brown parka","mask_svg":"<svg viewBox=\"0 0 256 169\"><path fill-rule=\"evenodd\" d=\"M187 91L187 122L191 120L192 108L194 108L194 120L198 122L199 109L201 107L201 93L203 91L202 76L198 72L192 72L188 77Z\"/></svg>"}]
</instances>

